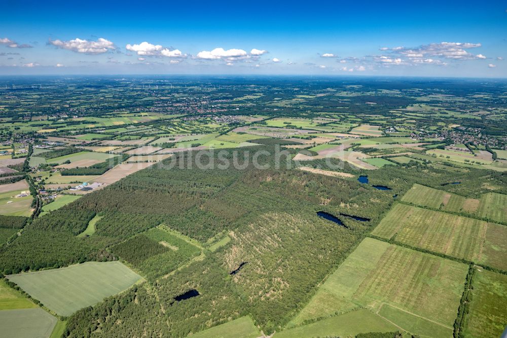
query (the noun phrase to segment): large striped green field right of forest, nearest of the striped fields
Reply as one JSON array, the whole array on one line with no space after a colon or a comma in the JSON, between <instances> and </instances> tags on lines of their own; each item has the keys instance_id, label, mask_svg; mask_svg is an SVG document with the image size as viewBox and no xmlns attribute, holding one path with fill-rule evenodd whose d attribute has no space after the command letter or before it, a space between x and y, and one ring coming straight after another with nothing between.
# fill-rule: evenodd
<instances>
[{"instance_id":1,"label":"large striped green field right of forest, nearest of the striped fields","mask_svg":"<svg viewBox=\"0 0 507 338\"><path fill-rule=\"evenodd\" d=\"M384 311L384 317L404 330L414 329L400 325L410 317L421 320L426 330L451 335L467 269L465 264L366 238L291 324L358 307L378 313L389 306L399 311ZM396 314L400 311L402 318Z\"/></svg>"}]
</instances>

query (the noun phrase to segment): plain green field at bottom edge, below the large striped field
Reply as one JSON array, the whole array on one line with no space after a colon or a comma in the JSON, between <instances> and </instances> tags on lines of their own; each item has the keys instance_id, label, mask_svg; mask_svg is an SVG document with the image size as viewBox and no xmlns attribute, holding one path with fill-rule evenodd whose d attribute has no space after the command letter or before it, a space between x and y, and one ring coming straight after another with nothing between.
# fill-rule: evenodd
<instances>
[{"instance_id":1,"label":"plain green field at bottom edge, below the large striped field","mask_svg":"<svg viewBox=\"0 0 507 338\"><path fill-rule=\"evenodd\" d=\"M358 333L394 332L399 328L379 315L358 309L340 316L333 316L317 322L296 326L275 333L273 338L306 338L306 337L349 337Z\"/></svg>"}]
</instances>

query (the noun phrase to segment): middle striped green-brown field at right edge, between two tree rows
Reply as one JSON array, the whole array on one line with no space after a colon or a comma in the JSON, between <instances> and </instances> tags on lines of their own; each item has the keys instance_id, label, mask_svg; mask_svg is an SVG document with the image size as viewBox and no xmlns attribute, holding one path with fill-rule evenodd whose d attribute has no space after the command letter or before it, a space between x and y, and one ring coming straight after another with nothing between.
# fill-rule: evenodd
<instances>
[{"instance_id":1,"label":"middle striped green-brown field at right edge, between two tree rows","mask_svg":"<svg viewBox=\"0 0 507 338\"><path fill-rule=\"evenodd\" d=\"M449 256L507 269L507 227L396 204L372 234Z\"/></svg>"}]
</instances>

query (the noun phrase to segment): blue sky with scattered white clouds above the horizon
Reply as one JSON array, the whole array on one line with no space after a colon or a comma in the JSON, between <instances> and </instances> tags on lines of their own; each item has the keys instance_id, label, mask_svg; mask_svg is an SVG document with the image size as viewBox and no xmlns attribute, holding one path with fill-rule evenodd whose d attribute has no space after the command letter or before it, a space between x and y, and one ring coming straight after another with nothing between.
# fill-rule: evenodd
<instances>
[{"instance_id":1,"label":"blue sky with scattered white clouds above the horizon","mask_svg":"<svg viewBox=\"0 0 507 338\"><path fill-rule=\"evenodd\" d=\"M4 1L0 75L507 77L504 1Z\"/></svg>"}]
</instances>

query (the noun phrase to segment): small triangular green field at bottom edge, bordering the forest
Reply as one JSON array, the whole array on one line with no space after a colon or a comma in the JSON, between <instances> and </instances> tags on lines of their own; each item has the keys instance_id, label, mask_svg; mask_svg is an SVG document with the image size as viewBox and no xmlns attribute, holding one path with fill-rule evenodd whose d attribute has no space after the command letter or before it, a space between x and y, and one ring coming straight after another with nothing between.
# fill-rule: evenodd
<instances>
[{"instance_id":1,"label":"small triangular green field at bottom edge, bordering the forest","mask_svg":"<svg viewBox=\"0 0 507 338\"><path fill-rule=\"evenodd\" d=\"M261 332L248 316L191 335L192 338L257 338L260 336L262 336Z\"/></svg>"}]
</instances>

